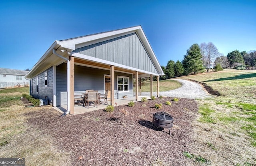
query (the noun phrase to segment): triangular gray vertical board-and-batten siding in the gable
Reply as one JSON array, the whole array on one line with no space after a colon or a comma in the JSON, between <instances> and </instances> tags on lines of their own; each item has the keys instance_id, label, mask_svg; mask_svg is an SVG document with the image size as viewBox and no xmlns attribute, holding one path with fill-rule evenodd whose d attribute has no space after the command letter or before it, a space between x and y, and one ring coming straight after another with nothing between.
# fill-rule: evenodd
<instances>
[{"instance_id":1,"label":"triangular gray vertical board-and-batten siding in the gable","mask_svg":"<svg viewBox=\"0 0 256 166\"><path fill-rule=\"evenodd\" d=\"M136 33L77 48L74 52L158 74Z\"/></svg>"}]
</instances>

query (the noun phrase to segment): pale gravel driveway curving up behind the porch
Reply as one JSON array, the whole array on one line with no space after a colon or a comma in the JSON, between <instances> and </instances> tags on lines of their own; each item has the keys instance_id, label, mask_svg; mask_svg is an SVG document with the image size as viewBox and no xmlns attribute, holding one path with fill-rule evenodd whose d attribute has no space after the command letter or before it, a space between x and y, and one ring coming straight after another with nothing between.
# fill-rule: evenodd
<instances>
[{"instance_id":1,"label":"pale gravel driveway curving up behind the porch","mask_svg":"<svg viewBox=\"0 0 256 166\"><path fill-rule=\"evenodd\" d=\"M176 98L190 98L190 99L203 99L212 97L202 86L196 82L181 80L181 79L172 79L182 83L182 87L169 90L165 92L159 92L159 95L167 97L176 97ZM150 92L142 92L142 96L150 96ZM153 92L153 96L156 96L156 92Z\"/></svg>"}]
</instances>

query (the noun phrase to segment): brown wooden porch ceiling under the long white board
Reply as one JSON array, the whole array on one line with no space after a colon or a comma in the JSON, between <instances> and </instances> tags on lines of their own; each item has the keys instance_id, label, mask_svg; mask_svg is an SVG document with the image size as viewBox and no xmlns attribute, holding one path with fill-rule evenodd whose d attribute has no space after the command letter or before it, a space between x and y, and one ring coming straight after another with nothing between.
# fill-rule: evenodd
<instances>
[{"instance_id":1,"label":"brown wooden porch ceiling under the long white board","mask_svg":"<svg viewBox=\"0 0 256 166\"><path fill-rule=\"evenodd\" d=\"M94 61L90 61L90 60L81 60L81 59L77 59L74 58L74 63L78 64L78 65L82 65L82 66L88 66L88 67L92 67L92 68L102 68L105 70L110 70L110 65L109 64L102 64L99 62L94 62ZM128 70L126 68L120 68L120 67L114 67L114 70L118 70L121 72L126 72L126 73L132 73L133 75L135 75L136 71L134 70ZM139 75L145 75L146 73L143 72L138 72ZM148 76L150 76L150 74L148 74Z\"/></svg>"}]
</instances>

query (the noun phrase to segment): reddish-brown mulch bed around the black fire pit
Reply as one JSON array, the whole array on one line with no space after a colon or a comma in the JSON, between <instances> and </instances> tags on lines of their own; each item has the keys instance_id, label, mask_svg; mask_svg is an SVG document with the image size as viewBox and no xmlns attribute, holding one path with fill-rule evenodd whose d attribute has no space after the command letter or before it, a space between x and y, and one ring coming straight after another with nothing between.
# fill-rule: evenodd
<instances>
[{"instance_id":1,"label":"reddish-brown mulch bed around the black fire pit","mask_svg":"<svg viewBox=\"0 0 256 166\"><path fill-rule=\"evenodd\" d=\"M58 140L56 146L70 153L67 157L74 166L143 166L160 162L193 165L182 152L190 151L190 122L195 119L198 104L192 99L179 98L178 102L172 99L136 102L134 107L115 106L112 113L97 110L64 117L46 108L43 112L29 113L28 124ZM166 105L166 101L172 105ZM162 103L163 109L154 108L156 103ZM122 108L129 112L124 116L125 124ZM168 134L168 128L151 128L152 115L159 111L178 119L170 128L174 135Z\"/></svg>"}]
</instances>

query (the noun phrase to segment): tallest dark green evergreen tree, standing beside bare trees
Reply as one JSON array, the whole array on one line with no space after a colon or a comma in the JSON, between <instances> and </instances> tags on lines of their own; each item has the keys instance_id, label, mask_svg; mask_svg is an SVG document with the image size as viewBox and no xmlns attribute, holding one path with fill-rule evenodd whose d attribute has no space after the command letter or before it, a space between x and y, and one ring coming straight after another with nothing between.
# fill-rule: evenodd
<instances>
[{"instance_id":1,"label":"tallest dark green evergreen tree, standing beside bare trees","mask_svg":"<svg viewBox=\"0 0 256 166\"><path fill-rule=\"evenodd\" d=\"M203 61L202 54L198 44L193 44L187 50L187 54L184 55L184 59L182 60L182 64L184 67L184 73L189 74L190 72L194 72L194 74L203 71Z\"/></svg>"}]
</instances>

